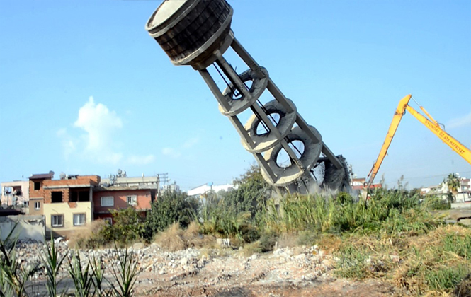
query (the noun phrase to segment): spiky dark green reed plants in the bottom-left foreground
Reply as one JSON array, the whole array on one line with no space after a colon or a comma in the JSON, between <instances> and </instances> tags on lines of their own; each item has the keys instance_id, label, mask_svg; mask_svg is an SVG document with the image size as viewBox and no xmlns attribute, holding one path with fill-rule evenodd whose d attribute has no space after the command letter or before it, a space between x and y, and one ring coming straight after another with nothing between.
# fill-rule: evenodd
<instances>
[{"instance_id":1,"label":"spiky dark green reed plants in the bottom-left foreground","mask_svg":"<svg viewBox=\"0 0 471 297\"><path fill-rule=\"evenodd\" d=\"M26 290L26 284L38 271L38 267L25 267L25 262L18 261L16 255L18 238L13 236L16 228L17 226L13 227L5 240L0 239L0 297L27 297L29 293L35 296L35 292ZM45 243L42 264L45 267L47 296L65 296L69 289L73 290L76 297L130 297L134 295L139 272L135 256L127 248L118 250L115 245L118 264L111 265L109 268L112 279L104 277L106 270L95 257L81 260L75 251L69 254L69 257L61 255L53 238ZM66 263L68 267L64 267ZM60 286L64 277L67 277L60 274L64 268L72 279L72 288Z\"/></svg>"}]
</instances>

